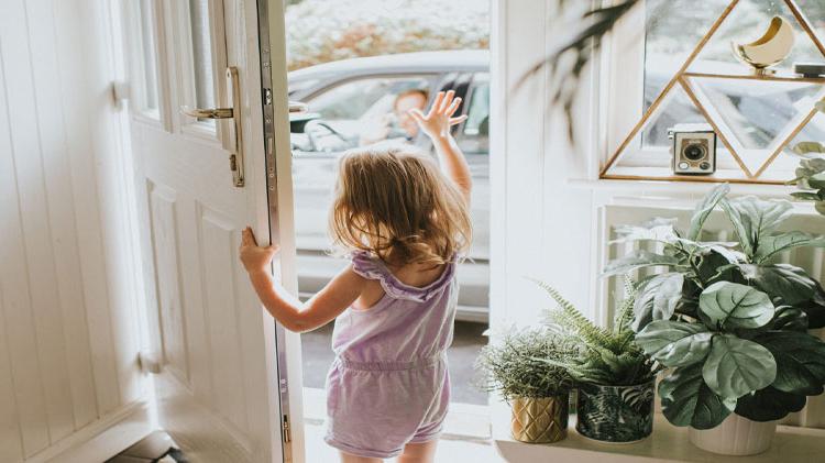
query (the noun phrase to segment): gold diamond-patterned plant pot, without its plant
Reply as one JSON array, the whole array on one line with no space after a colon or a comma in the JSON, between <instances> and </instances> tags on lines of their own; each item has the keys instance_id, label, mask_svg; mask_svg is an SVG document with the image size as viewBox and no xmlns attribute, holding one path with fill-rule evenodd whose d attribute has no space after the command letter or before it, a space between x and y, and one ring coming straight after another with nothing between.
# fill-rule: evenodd
<instances>
[{"instance_id":1,"label":"gold diamond-patterned plant pot, without its plant","mask_svg":"<svg viewBox=\"0 0 825 463\"><path fill-rule=\"evenodd\" d=\"M550 443L564 439L568 436L568 401L566 394L513 398L513 439L527 443Z\"/></svg>"}]
</instances>

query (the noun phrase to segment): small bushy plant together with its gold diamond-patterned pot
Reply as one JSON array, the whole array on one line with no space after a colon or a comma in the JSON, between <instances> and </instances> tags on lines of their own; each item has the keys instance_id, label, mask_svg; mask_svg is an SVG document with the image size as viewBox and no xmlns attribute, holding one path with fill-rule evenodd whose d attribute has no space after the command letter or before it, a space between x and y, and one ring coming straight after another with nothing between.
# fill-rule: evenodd
<instances>
[{"instance_id":1,"label":"small bushy plant together with its gold diamond-patterned pot","mask_svg":"<svg viewBox=\"0 0 825 463\"><path fill-rule=\"evenodd\" d=\"M484 373L483 387L509 403L514 439L550 443L566 437L573 379L564 367L544 361L563 363L574 352L543 328L506 332L482 349L476 366Z\"/></svg>"}]
</instances>

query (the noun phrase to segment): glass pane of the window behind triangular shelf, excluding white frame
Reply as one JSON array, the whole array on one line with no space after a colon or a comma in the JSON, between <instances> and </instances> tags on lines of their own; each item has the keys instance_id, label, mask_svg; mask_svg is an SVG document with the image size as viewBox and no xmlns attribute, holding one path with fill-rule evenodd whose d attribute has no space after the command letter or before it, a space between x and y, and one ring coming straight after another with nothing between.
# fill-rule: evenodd
<instances>
[{"instance_id":1,"label":"glass pane of the window behind triangular shelf, excluding white frame","mask_svg":"<svg viewBox=\"0 0 825 463\"><path fill-rule=\"evenodd\" d=\"M645 109L659 96L671 76L688 58L707 29L729 4L729 0L707 0L702 8L686 0L648 0L647 36L645 44ZM800 1L800 7L812 21L825 26L825 5L815 1ZM690 5L693 8L689 8ZM682 12L678 14L676 12ZM741 74L743 65L730 52L730 43L756 38L772 16L783 15L795 25L782 0L743 2L728 16L716 35L700 55L696 66L714 73ZM818 19L818 21L817 21ZM793 54L782 65L822 60L822 55L800 31ZM725 123L746 150L767 147L798 113L796 104L813 97L818 86L798 84L748 82L740 80L697 81L707 93ZM644 135L646 146L666 146L667 130L679 122L704 122L702 115L681 96L675 97L663 117L651 124ZM823 139L823 128L809 126L803 135Z\"/></svg>"}]
</instances>

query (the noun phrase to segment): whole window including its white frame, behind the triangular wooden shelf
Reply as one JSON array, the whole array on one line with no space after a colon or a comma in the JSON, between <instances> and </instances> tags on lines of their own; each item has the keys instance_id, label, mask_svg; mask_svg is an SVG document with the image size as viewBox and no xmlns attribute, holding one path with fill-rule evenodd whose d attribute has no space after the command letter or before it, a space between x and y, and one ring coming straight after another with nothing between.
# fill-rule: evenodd
<instances>
[{"instance_id":1,"label":"whole window including its white frame, behind the triangular wooden shelf","mask_svg":"<svg viewBox=\"0 0 825 463\"><path fill-rule=\"evenodd\" d=\"M820 36L825 36L825 3L796 0ZM700 7L701 4L701 7ZM630 15L616 31L610 57L608 109L608 155L624 141L632 126L659 97L682 64L695 49L730 0L646 0L644 11ZM692 73L747 75L749 67L732 52L732 42L756 40L771 18L780 15L793 24L796 44L791 56L777 66L780 74L792 74L794 63L822 62L814 43L802 31L783 0L743 0L722 23L689 69ZM642 34L635 31L644 30ZM628 38L634 37L634 38ZM624 43L622 42L624 41ZM635 41L635 42L632 42ZM632 43L630 43L632 42ZM631 66L639 63L640 69ZM823 96L822 86L804 82L754 81L733 78L691 77L702 93L703 104L721 122L727 139L751 172L791 134L791 128ZM680 123L706 123L688 93L676 85L661 102L619 165L666 167L671 162L668 129ZM825 118L816 117L796 141L825 140ZM793 145L793 143L791 143ZM727 150L721 145L721 150ZM790 156L780 156L789 157ZM795 164L793 161L791 164ZM735 168L728 155L719 155L719 168ZM782 167L784 168L784 167Z\"/></svg>"}]
</instances>

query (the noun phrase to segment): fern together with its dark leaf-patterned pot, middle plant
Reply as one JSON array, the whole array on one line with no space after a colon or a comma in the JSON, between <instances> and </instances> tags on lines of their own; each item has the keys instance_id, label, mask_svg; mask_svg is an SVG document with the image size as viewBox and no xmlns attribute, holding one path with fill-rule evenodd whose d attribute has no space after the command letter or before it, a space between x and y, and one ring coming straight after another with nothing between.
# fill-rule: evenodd
<instances>
[{"instance_id":1,"label":"fern together with its dark leaf-patterned pot, middle plant","mask_svg":"<svg viewBox=\"0 0 825 463\"><path fill-rule=\"evenodd\" d=\"M558 335L580 346L564 366L576 381L576 426L580 434L602 442L640 441L653 430L654 366L636 344L630 329L634 285L616 313L613 328L602 328L584 317L552 287L539 285L557 302L547 321Z\"/></svg>"}]
</instances>

